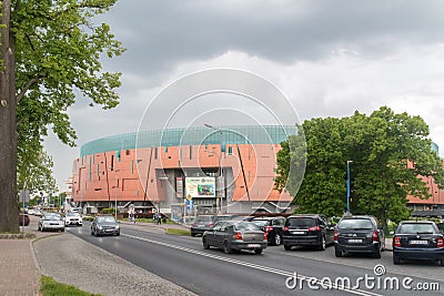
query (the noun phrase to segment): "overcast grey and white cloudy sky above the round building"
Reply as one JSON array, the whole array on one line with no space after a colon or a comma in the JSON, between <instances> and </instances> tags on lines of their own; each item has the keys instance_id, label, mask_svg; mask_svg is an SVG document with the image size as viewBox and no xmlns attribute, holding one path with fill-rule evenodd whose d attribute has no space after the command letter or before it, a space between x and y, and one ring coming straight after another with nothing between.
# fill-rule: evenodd
<instances>
[{"instance_id":1,"label":"overcast grey and white cloudy sky above the round building","mask_svg":"<svg viewBox=\"0 0 444 296\"><path fill-rule=\"evenodd\" d=\"M135 132L147 114L153 115L151 122L158 121L154 115L171 118L184 98L160 100L161 90L214 68L266 80L287 98L301 121L349 116L356 110L370 114L382 105L420 115L442 154L443 16L444 1L427 0L120 0L100 21L109 23L128 49L122 57L103 60L107 71L122 72L121 104L103 111L81 99L71 108L78 147L52 137L46 142L58 184L65 190L82 144ZM233 119L264 123L258 120L258 104L245 98L230 93L204 99L199 109L190 104L174 113L170 126L223 125ZM155 102L161 103L150 111Z\"/></svg>"}]
</instances>

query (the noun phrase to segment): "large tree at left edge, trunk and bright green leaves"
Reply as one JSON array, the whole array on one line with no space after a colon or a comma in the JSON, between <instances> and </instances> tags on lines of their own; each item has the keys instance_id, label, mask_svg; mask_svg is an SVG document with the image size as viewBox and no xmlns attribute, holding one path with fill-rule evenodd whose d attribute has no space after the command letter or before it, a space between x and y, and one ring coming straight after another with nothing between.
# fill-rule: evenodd
<instances>
[{"instance_id":1,"label":"large tree at left edge, trunk and bright green leaves","mask_svg":"<svg viewBox=\"0 0 444 296\"><path fill-rule=\"evenodd\" d=\"M117 0L3 0L0 23L0 232L18 232L17 174L22 183L48 175L48 129L65 144L77 139L67 110L77 95L104 109L119 103L120 73L100 58L124 49L94 17ZM42 161L42 162L41 162ZM18 166L20 166L18 169Z\"/></svg>"}]
</instances>

